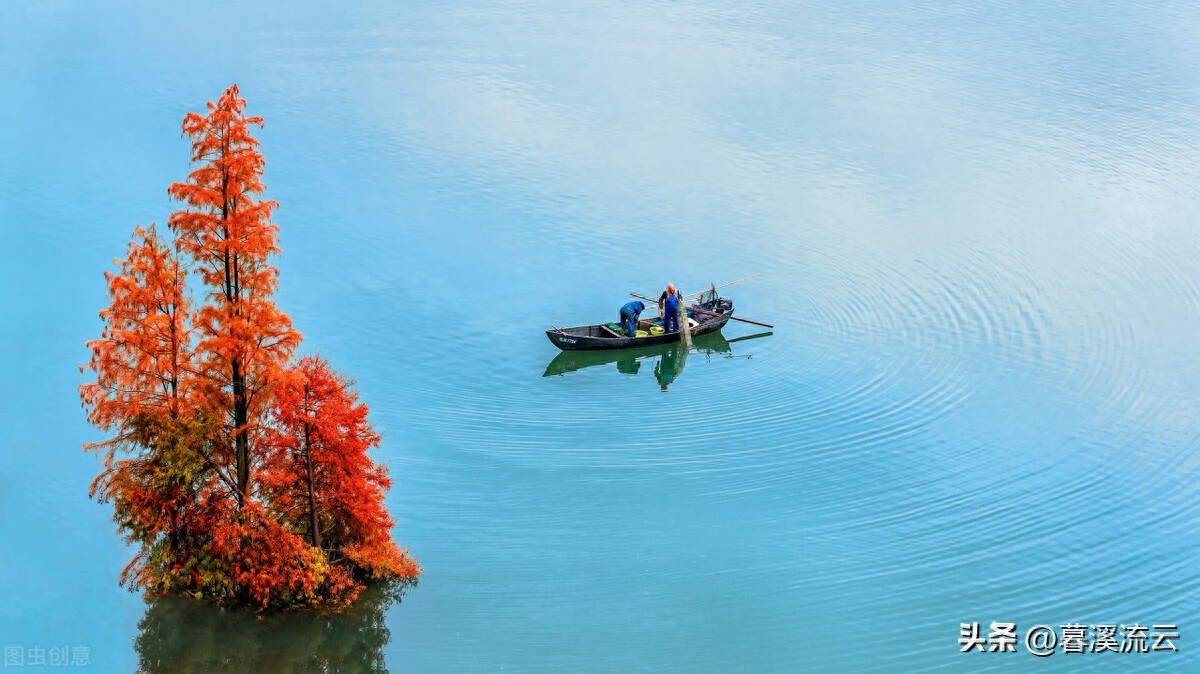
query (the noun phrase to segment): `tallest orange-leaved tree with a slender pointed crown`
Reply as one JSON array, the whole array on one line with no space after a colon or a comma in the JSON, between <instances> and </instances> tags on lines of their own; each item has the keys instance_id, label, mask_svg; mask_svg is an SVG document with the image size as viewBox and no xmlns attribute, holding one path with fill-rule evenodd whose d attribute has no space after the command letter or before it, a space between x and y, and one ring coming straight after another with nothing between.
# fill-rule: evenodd
<instances>
[{"instance_id":1,"label":"tallest orange-leaved tree with a slender pointed crown","mask_svg":"<svg viewBox=\"0 0 1200 674\"><path fill-rule=\"evenodd\" d=\"M200 166L168 193L187 204L170 215L175 245L196 260L209 287L196 317L197 362L205 404L226 415L226 462L233 465L239 506L251 495L254 431L260 427L274 375L300 343L300 333L272 299L278 270L269 258L278 252L276 203L256 197L264 191L265 160L250 134L258 116L246 116L246 100L233 85L209 114L188 113L184 133L192 139L192 161Z\"/></svg>"}]
</instances>

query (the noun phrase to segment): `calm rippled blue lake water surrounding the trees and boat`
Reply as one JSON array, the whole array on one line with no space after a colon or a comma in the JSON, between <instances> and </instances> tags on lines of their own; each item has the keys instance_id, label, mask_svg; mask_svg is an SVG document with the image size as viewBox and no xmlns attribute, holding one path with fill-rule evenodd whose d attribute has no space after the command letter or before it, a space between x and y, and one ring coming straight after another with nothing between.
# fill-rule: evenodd
<instances>
[{"instance_id":1,"label":"calm rippled blue lake water surrounding the trees and boat","mask_svg":"<svg viewBox=\"0 0 1200 674\"><path fill-rule=\"evenodd\" d=\"M1200 668L1195 4L326 5L0 7L6 657ZM232 83L278 303L384 434L425 567L398 602L148 603L86 495L102 272ZM772 335L542 335L749 273ZM1181 652L960 654L972 621L1175 624Z\"/></svg>"}]
</instances>

